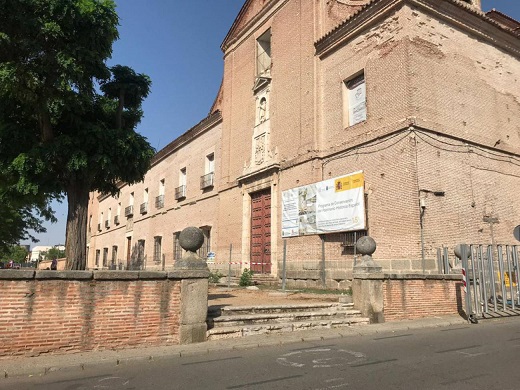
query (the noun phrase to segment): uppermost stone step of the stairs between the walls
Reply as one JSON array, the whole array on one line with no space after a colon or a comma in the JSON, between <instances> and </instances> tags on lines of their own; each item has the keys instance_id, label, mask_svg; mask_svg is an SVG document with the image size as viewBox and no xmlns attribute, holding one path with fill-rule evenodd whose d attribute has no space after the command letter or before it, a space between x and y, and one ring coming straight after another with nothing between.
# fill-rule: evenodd
<instances>
[{"instance_id":1,"label":"uppermost stone step of the stairs between the walls","mask_svg":"<svg viewBox=\"0 0 520 390\"><path fill-rule=\"evenodd\" d=\"M323 302L323 303L309 303L309 304L283 304L283 305L256 305L256 306L224 306L224 307L210 307L208 309L209 317L220 317L236 314L270 314L270 313L294 313L317 310L348 310L354 307L353 303L337 303L337 302Z\"/></svg>"}]
</instances>

